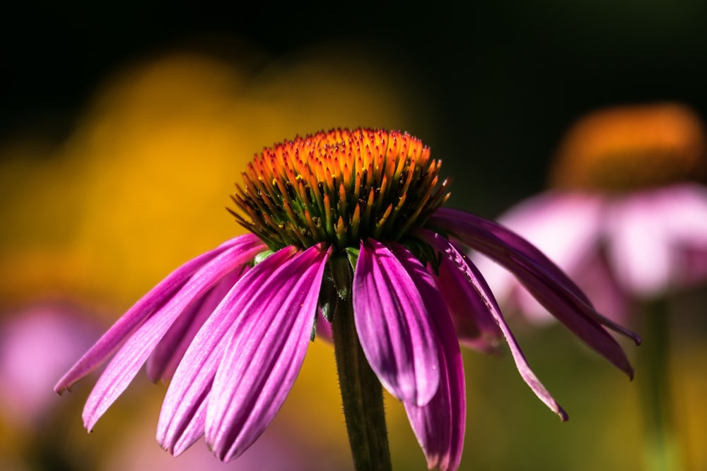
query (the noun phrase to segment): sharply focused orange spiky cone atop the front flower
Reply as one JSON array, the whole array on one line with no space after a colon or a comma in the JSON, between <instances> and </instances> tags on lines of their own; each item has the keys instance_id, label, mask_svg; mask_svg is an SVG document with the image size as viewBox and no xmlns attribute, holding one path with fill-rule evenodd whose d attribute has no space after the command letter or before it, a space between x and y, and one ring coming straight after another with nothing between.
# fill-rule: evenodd
<instances>
[{"instance_id":1,"label":"sharply focused orange spiky cone atop the front flower","mask_svg":"<svg viewBox=\"0 0 707 471\"><path fill-rule=\"evenodd\" d=\"M441 162L399 131L333 130L265 148L243 173L233 212L272 249L396 241L448 198Z\"/></svg>"}]
</instances>

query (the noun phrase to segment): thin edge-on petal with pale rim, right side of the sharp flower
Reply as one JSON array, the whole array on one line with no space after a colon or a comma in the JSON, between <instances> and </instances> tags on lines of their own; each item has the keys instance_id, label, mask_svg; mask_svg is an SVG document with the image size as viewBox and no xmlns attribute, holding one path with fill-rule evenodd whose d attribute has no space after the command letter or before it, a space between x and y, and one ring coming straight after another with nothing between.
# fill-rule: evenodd
<instances>
[{"instance_id":1,"label":"thin edge-on petal with pale rim, right side of the sharp flower","mask_svg":"<svg viewBox=\"0 0 707 471\"><path fill-rule=\"evenodd\" d=\"M460 254L460 252L458 252L452 244L450 244L439 234L426 229L419 230L418 234L425 242L438 250L442 256L448 258L448 260L457 266L457 268L464 274L464 277L467 278L472 287L474 287L474 290L479 294L479 297L483 300L484 304L486 304L486 309L488 309L493 318L496 319L498 327L501 328L501 332L503 332L503 336L506 338L506 342L508 342L510 353L513 356L513 361L515 362L516 368L518 368L520 376L523 378L525 383L530 386L530 389L532 389L535 395L537 395L537 397L542 400L545 405L547 405L547 407L559 415L560 419L563 421L567 420L566 412L558 403L556 403L548 390L532 372L532 369L530 369L530 365L527 363L525 355L522 350L520 350L520 345L518 345L513 333L510 331L510 328L506 323L506 319L503 318L501 309L498 308L496 299L493 297L493 293L491 293L489 285L486 284L486 280L484 280L484 277L481 273L479 273L479 270L473 263L471 263L471 261L469 261L467 256Z\"/></svg>"}]
</instances>

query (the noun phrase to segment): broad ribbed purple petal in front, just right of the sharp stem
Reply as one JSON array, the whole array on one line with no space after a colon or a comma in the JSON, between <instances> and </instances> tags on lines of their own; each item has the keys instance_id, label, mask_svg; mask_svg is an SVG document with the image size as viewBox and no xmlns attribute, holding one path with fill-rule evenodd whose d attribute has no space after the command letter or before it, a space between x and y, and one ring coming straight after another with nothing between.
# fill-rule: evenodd
<instances>
[{"instance_id":1,"label":"broad ribbed purple petal in front, just right of the sharp stem","mask_svg":"<svg viewBox=\"0 0 707 471\"><path fill-rule=\"evenodd\" d=\"M380 242L361 242L353 295L358 340L382 385L399 400L428 403L439 384L436 333L410 275Z\"/></svg>"}]
</instances>

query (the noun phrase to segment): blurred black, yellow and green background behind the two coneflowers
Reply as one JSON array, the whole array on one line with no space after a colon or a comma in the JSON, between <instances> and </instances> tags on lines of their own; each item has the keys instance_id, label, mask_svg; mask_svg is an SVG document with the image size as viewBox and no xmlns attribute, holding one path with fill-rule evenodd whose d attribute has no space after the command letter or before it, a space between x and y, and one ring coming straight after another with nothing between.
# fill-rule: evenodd
<instances>
[{"instance_id":1,"label":"blurred black, yellow and green background behind the two coneflowers","mask_svg":"<svg viewBox=\"0 0 707 471\"><path fill-rule=\"evenodd\" d=\"M248 3L2 15L0 469L351 467L323 342L262 440L229 465L203 443L176 460L159 448L165 385L139 377L90 435L80 411L95 376L52 392L141 294L241 232L224 207L264 145L339 126L407 130L443 159L450 205L494 217L544 189L561 136L592 109L677 100L707 116L699 0ZM707 470L704 301L684 294L671 319L673 404L694 470ZM647 469L636 381L559 326L510 321L571 420L534 398L510 355L464 352L462 469ZM425 469L387 399L396 469Z\"/></svg>"}]
</instances>

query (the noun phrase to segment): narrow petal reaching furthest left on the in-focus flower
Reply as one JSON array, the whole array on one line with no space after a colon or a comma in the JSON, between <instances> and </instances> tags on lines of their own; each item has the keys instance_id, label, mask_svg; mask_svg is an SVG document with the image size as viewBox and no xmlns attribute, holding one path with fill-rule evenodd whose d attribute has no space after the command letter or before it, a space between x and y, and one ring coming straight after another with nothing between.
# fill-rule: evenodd
<instances>
[{"instance_id":1,"label":"narrow petal reaching furthest left on the in-focus flower","mask_svg":"<svg viewBox=\"0 0 707 471\"><path fill-rule=\"evenodd\" d=\"M57 393L61 393L103 363L146 318L152 316L168 299L173 297L177 290L180 290L201 266L214 260L214 258L223 254L224 251L233 248L248 250L254 246L264 246L264 244L252 234L235 237L224 242L216 249L193 258L170 273L167 278L162 280L156 287L153 287L103 334L103 337L64 374L57 386L54 386L54 390Z\"/></svg>"}]
</instances>

